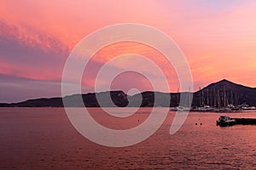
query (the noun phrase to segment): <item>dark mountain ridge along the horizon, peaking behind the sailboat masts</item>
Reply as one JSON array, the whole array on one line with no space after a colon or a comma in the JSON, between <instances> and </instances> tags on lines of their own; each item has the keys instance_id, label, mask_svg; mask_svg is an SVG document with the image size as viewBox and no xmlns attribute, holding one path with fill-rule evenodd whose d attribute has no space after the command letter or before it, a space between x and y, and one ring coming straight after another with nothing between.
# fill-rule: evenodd
<instances>
[{"instance_id":1,"label":"dark mountain ridge along the horizon, peaking behind the sailboat masts","mask_svg":"<svg viewBox=\"0 0 256 170\"><path fill-rule=\"evenodd\" d=\"M129 96L123 91L82 94L83 103L79 103L80 94L63 98L68 107L152 107L177 106L183 93L143 92ZM109 95L111 99L109 99ZM97 99L100 99L98 101ZM155 101L154 101L155 100ZM99 105L99 102L101 105ZM228 80L214 82L193 94L193 106L210 105L221 107L226 105L256 105L256 88L248 88ZM0 104L0 107L63 107L62 98L29 99L19 103Z\"/></svg>"}]
</instances>

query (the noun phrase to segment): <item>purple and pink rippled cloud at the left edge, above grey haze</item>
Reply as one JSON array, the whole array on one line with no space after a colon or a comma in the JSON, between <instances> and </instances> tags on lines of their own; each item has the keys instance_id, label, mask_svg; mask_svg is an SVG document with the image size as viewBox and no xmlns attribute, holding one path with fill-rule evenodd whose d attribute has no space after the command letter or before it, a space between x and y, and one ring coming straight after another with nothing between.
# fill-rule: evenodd
<instances>
[{"instance_id":1,"label":"purple and pink rippled cloud at the left edge, above grey haze","mask_svg":"<svg viewBox=\"0 0 256 170\"><path fill-rule=\"evenodd\" d=\"M61 79L67 47L42 32L0 22L0 73L38 80ZM3 69L4 68L4 69Z\"/></svg>"}]
</instances>

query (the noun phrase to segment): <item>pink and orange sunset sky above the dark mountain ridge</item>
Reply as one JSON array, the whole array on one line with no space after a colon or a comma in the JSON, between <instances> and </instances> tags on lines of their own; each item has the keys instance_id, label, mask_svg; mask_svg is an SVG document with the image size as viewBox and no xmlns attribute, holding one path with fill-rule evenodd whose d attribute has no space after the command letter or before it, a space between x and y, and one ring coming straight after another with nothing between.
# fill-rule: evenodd
<instances>
[{"instance_id":1,"label":"pink and orange sunset sky above the dark mountain ridge","mask_svg":"<svg viewBox=\"0 0 256 170\"><path fill-rule=\"evenodd\" d=\"M256 2L251 0L106 0L106 1L1 1L0 102L61 96L64 65L73 48L104 26L137 23L152 26L172 38L188 60L196 91L211 82L228 79L256 87ZM94 92L102 65L120 70L140 67L161 80L152 66L136 56L152 59L166 75L170 91L179 82L173 65L154 48L121 42L102 48L90 60L81 81L83 93ZM152 90L141 73L126 71L110 82L126 93ZM108 90L108 78L99 80ZM137 91L137 92L138 92Z\"/></svg>"}]
</instances>

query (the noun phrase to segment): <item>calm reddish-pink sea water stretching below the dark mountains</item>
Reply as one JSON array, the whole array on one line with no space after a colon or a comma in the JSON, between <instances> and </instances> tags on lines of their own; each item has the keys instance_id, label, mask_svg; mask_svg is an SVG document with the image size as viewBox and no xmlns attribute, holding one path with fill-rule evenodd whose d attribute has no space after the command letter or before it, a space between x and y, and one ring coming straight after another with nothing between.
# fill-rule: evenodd
<instances>
[{"instance_id":1,"label":"calm reddish-pink sea water stretching below the dark mountains","mask_svg":"<svg viewBox=\"0 0 256 170\"><path fill-rule=\"evenodd\" d=\"M110 110L125 115L130 109ZM90 114L106 127L125 129L150 111L113 118L91 108ZM62 108L1 108L0 169L256 169L256 126L217 127L223 114L192 112L170 135L174 115L142 143L110 148L80 135ZM256 118L255 111L224 115Z\"/></svg>"}]
</instances>

